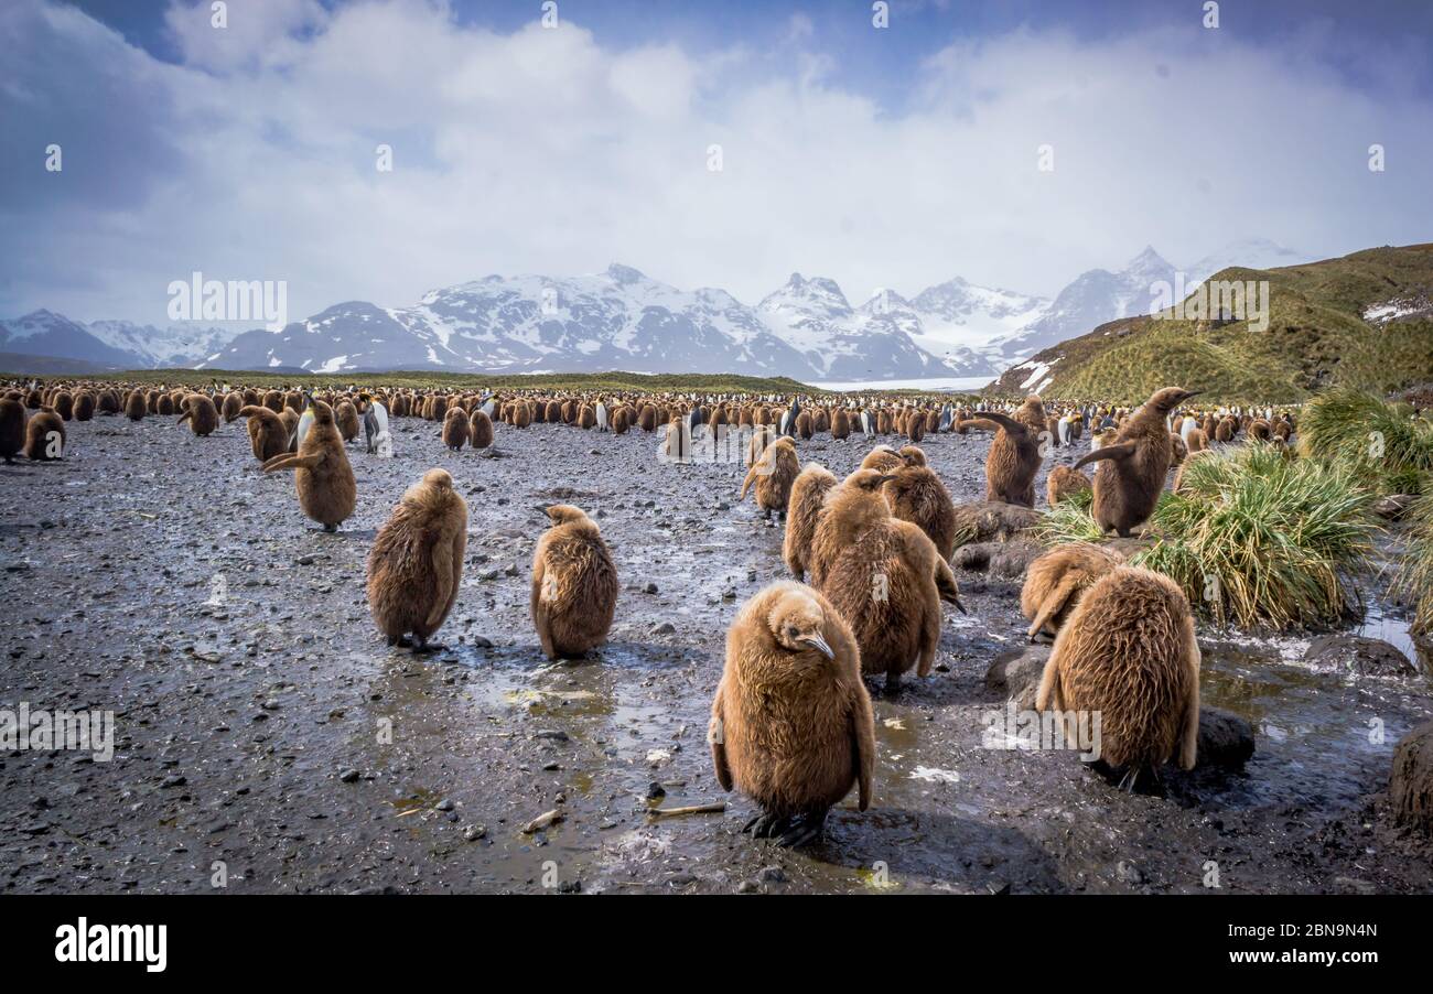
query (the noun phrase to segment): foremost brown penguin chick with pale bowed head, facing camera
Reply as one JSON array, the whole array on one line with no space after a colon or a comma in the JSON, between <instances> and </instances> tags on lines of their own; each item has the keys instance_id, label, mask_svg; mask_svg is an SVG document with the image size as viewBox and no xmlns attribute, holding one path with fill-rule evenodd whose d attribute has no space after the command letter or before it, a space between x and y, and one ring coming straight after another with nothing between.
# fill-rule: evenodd
<instances>
[{"instance_id":1,"label":"foremost brown penguin chick with pale bowed head, facing camera","mask_svg":"<svg viewBox=\"0 0 1433 994\"><path fill-rule=\"evenodd\" d=\"M876 718L856 639L825 597L780 582L742 606L706 740L722 789L761 808L742 829L757 838L818 841L851 786L860 811L870 808Z\"/></svg>"}]
</instances>

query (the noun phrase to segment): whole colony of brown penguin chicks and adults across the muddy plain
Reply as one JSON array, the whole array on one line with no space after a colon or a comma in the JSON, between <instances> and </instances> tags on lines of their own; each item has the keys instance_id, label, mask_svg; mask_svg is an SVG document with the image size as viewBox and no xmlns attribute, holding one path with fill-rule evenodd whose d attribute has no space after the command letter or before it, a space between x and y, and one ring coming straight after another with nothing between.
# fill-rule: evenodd
<instances>
[{"instance_id":1,"label":"whole colony of brown penguin chicks and adults across the muddy plain","mask_svg":"<svg viewBox=\"0 0 1433 994\"><path fill-rule=\"evenodd\" d=\"M754 594L727 633L727 657L708 732L724 789L759 809L747 829L782 845L821 838L828 811L853 788L866 811L876 791L876 736L867 677L887 692L914 670L926 677L943 632L943 606L964 610L949 560L956 546L954 503L917 445L927 435L992 431L986 498L1035 506L1035 480L1052 450L1092 438L1089 454L1048 476L1046 503L1093 491L1092 513L1129 536L1154 510L1166 474L1211 444L1287 443L1295 425L1273 411L1192 411L1197 394L1171 387L1138 410L1056 405L1030 395L1015 410L953 408L930 401L813 398L694 398L653 394L504 395L463 391L258 390L212 384L168 390L139 384L33 384L0 388L0 455L43 463L64 458L66 423L122 415L175 417L202 440L245 420L264 473L295 471L301 510L334 531L353 517L357 484L348 443L393 454L388 418L440 425L444 447L494 448L494 425L565 425L613 435L665 431L669 457L689 457L694 440L737 427L749 433L751 493L765 521L785 524L782 560L794 580ZM801 464L800 441L830 434L871 444L860 468L838 480ZM745 438L745 435L742 435ZM857 444L860 444L860 441ZM904 444L901 444L904 443ZM198 444L198 443L196 443ZM969 443L967 443L969 444ZM1096 464L1093 481L1079 473ZM543 508L530 616L549 659L600 646L618 607L619 576L598 523L569 504ZM367 600L390 646L423 652L460 596L467 504L447 470L428 470L378 529L367 559ZM802 582L805 580L805 582ZM1189 606L1168 579L1123 564L1098 544L1073 543L1026 571L1020 610L1032 640L1053 639L1036 706L1103 716L1101 762L1122 786L1195 761L1199 650Z\"/></svg>"}]
</instances>

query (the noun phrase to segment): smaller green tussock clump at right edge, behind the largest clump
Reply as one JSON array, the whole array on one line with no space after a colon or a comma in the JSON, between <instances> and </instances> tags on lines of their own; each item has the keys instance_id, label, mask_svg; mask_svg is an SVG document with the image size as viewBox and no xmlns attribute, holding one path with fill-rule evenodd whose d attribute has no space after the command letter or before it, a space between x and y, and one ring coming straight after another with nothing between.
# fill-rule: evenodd
<instances>
[{"instance_id":1,"label":"smaller green tussock clump at right edge, behind the largest clump","mask_svg":"<svg viewBox=\"0 0 1433 994\"><path fill-rule=\"evenodd\" d=\"M1433 423L1407 404L1354 388L1317 397L1300 415L1298 451L1344 465L1380 493L1423 493L1433 471Z\"/></svg>"}]
</instances>

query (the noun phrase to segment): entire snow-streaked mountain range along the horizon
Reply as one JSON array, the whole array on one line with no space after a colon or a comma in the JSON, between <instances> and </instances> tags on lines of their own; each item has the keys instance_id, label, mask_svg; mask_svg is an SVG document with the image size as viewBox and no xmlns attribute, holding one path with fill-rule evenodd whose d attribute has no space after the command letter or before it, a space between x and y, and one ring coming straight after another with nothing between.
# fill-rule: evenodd
<instances>
[{"instance_id":1,"label":"entire snow-streaked mountain range along the horizon","mask_svg":"<svg viewBox=\"0 0 1433 994\"><path fill-rule=\"evenodd\" d=\"M1187 285L1228 265L1293 265L1265 239L1234 242L1184 271ZM570 278L486 276L417 304L335 304L278 332L83 325L49 311L0 322L0 352L105 368L183 365L310 372L688 372L804 381L997 375L1116 318L1148 314L1152 284L1176 269L1146 248L1119 272L1091 269L1055 299L953 278L914 296L877 291L853 307L823 276L792 274L755 307L722 289L682 291L610 265Z\"/></svg>"}]
</instances>

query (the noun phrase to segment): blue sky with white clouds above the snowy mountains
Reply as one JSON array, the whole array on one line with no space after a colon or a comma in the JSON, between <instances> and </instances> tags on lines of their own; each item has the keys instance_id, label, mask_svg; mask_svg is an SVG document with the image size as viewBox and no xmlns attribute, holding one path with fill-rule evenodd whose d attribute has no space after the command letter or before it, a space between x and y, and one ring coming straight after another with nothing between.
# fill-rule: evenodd
<instances>
[{"instance_id":1,"label":"blue sky with white clouds above the snowy mountains","mask_svg":"<svg viewBox=\"0 0 1433 994\"><path fill-rule=\"evenodd\" d=\"M0 317L163 322L195 269L307 315L613 261L860 301L1433 241L1423 0L555 6L4 0Z\"/></svg>"}]
</instances>

